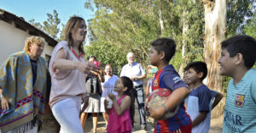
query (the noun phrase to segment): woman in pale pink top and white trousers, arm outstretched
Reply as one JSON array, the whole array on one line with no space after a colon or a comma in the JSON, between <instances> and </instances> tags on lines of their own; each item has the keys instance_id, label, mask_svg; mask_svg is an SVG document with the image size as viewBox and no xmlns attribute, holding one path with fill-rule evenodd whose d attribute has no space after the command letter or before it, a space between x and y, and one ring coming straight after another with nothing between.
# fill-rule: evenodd
<instances>
[{"instance_id":1,"label":"woman in pale pink top and white trousers, arm outstretched","mask_svg":"<svg viewBox=\"0 0 256 133\"><path fill-rule=\"evenodd\" d=\"M49 62L52 83L49 105L61 125L61 133L84 132L79 114L82 100L85 107L88 104L88 98L85 98L85 74L93 75L90 70L98 70L94 64L84 60L86 29L84 19L76 16L69 19L65 41L55 46Z\"/></svg>"}]
</instances>

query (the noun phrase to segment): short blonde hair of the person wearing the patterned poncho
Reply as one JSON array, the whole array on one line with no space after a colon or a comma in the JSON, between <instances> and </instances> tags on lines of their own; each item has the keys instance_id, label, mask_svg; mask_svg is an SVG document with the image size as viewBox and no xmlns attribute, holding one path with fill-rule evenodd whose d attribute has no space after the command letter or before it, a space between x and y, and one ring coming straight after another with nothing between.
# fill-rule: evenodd
<instances>
[{"instance_id":1,"label":"short blonde hair of the person wearing the patterned poncho","mask_svg":"<svg viewBox=\"0 0 256 133\"><path fill-rule=\"evenodd\" d=\"M26 38L26 42L25 42L25 47L23 48L23 51L25 53L29 53L30 52L30 46L32 44L37 44L37 45L44 45L44 38L39 37L39 36L30 36L28 38Z\"/></svg>"}]
</instances>

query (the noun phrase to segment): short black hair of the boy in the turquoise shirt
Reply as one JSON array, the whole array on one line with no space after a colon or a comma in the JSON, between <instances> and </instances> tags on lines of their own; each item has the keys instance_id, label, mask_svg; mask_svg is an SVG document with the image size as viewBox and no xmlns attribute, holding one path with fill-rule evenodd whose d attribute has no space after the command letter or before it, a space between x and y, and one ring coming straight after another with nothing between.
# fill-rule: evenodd
<instances>
[{"instance_id":1,"label":"short black hair of the boy in the turquoise shirt","mask_svg":"<svg viewBox=\"0 0 256 133\"><path fill-rule=\"evenodd\" d=\"M253 67L256 61L256 41L251 36L238 35L221 42L221 48L226 48L230 53L230 58L241 53L244 65L247 69Z\"/></svg>"}]
</instances>

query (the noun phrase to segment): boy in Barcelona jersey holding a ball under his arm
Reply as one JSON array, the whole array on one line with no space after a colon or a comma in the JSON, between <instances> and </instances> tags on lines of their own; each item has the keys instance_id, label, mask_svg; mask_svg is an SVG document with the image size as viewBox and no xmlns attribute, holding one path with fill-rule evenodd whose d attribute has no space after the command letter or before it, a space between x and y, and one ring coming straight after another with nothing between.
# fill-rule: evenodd
<instances>
[{"instance_id":1,"label":"boy in Barcelona jersey holding a ball under his arm","mask_svg":"<svg viewBox=\"0 0 256 133\"><path fill-rule=\"evenodd\" d=\"M167 97L166 103L160 108L148 107L148 113L157 123L154 133L190 133L191 119L186 114L184 108L184 99L189 95L188 86L181 80L177 71L169 65L169 62L176 51L176 44L172 39L159 38L150 43L150 64L158 68L158 72L154 76L153 91L158 88L166 88L172 91ZM167 111L179 107L177 114L169 119L160 119Z\"/></svg>"}]
</instances>

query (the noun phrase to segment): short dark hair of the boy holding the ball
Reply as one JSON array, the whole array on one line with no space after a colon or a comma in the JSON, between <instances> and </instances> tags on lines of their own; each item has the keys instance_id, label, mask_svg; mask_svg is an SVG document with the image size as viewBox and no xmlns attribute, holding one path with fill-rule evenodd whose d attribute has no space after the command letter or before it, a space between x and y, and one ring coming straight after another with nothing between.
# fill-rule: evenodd
<instances>
[{"instance_id":1,"label":"short dark hair of the boy holding the ball","mask_svg":"<svg viewBox=\"0 0 256 133\"><path fill-rule=\"evenodd\" d=\"M164 61L166 63L170 62L176 52L176 44L171 38L159 38L154 40L154 42L150 42L150 45L154 47L158 54L160 52L165 53Z\"/></svg>"}]
</instances>

